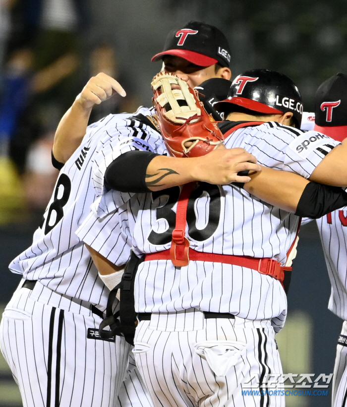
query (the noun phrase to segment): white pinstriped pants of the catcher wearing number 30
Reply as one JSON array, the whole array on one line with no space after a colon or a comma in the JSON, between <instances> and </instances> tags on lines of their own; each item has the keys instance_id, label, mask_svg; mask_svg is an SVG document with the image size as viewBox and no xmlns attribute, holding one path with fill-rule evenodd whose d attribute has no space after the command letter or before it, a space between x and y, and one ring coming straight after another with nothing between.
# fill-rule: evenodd
<instances>
[{"instance_id":1,"label":"white pinstriped pants of the catcher wearing number 30","mask_svg":"<svg viewBox=\"0 0 347 407\"><path fill-rule=\"evenodd\" d=\"M270 320L205 319L196 309L152 314L139 322L134 344L155 407L285 405L283 393L264 383L282 374ZM244 393L250 380L255 388Z\"/></svg>"}]
</instances>

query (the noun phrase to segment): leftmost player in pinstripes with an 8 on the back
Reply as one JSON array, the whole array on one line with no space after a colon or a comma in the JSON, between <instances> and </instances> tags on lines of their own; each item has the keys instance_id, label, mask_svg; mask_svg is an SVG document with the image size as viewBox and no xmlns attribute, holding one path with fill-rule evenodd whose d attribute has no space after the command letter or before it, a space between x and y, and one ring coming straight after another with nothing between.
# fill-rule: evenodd
<instances>
[{"instance_id":1,"label":"leftmost player in pinstripes with an 8 on the back","mask_svg":"<svg viewBox=\"0 0 347 407\"><path fill-rule=\"evenodd\" d=\"M146 109L140 112L148 114ZM132 118L123 121L130 139L131 135L140 135L142 143L157 143L158 152L166 151L157 129ZM24 284L3 313L1 350L25 406L114 405L125 378L130 346L122 337L100 340L98 328L109 291L98 277L88 250L74 234L95 199L93 163L103 157L102 147L118 125L119 119L107 116L90 126L80 147L60 170L33 244L9 266L23 275ZM100 142L97 133L101 129L105 137ZM234 159L231 152L231 162L236 166L233 171L230 160L225 161L234 174L232 179L242 181L236 175L239 156ZM257 169L254 157L246 152L241 156L246 169ZM221 159L218 164L210 164L206 172L214 174L221 168ZM128 195L120 194L117 206ZM114 228L113 263L118 270L127 262L129 248L127 237L122 238L118 232L119 224ZM31 366L35 366L34 371Z\"/></svg>"}]
</instances>

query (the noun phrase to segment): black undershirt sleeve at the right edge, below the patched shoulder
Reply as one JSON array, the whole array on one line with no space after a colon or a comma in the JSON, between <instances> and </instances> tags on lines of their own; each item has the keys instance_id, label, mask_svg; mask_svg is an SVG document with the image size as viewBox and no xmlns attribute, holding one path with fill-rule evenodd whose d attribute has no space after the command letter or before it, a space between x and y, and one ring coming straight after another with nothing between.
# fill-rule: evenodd
<instances>
[{"instance_id":1,"label":"black undershirt sleeve at the right edge, below the patched shoulder","mask_svg":"<svg viewBox=\"0 0 347 407\"><path fill-rule=\"evenodd\" d=\"M302 192L295 215L318 219L347 205L347 193L340 187L309 182Z\"/></svg>"}]
</instances>

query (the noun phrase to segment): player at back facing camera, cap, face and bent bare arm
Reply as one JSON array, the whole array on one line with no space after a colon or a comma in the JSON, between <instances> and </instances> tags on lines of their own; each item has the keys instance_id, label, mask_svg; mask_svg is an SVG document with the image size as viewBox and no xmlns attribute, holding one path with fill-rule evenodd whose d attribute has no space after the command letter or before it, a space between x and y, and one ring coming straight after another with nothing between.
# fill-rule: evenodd
<instances>
[{"instance_id":1,"label":"player at back facing camera, cap, face and bent bare arm","mask_svg":"<svg viewBox=\"0 0 347 407\"><path fill-rule=\"evenodd\" d=\"M175 73L191 87L201 86L211 78L231 78L231 51L227 38L217 27L200 21L189 21L183 27L171 31L164 50L152 58L152 61L159 60L163 61L163 69ZM114 89L117 86L115 82L115 79L105 73L92 77L88 82L88 92L77 97L62 117L53 146L54 156L59 162L66 162L78 147L86 133L93 105L102 103L117 91L117 88ZM221 100L221 96L227 95L229 90L223 81L219 85L215 83L214 87L217 93L218 90L221 92L216 98L208 90L211 104ZM204 93L201 89L199 91ZM123 89L119 92L125 95Z\"/></svg>"}]
</instances>

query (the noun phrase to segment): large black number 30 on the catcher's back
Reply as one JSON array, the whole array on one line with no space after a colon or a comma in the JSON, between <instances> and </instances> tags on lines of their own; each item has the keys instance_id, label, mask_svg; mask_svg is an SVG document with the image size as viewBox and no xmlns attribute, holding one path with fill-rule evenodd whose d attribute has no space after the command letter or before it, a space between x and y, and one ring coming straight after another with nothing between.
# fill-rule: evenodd
<instances>
[{"instance_id":1,"label":"large black number 30 on the catcher's back","mask_svg":"<svg viewBox=\"0 0 347 407\"><path fill-rule=\"evenodd\" d=\"M158 233L152 230L148 236L148 241L152 244L167 244L171 242L173 229L176 223L176 214L173 212L173 207L177 203L179 198L179 187L174 186L163 191L152 192L153 202L164 195L168 196L168 201L164 206L157 208L156 217L159 219L165 219L169 225L169 228L163 232ZM208 219L204 222L204 228L197 228L197 216L198 211L197 202L201 196L208 196L208 210L205 209L205 213L208 213ZM188 207L187 207L187 224L188 234L191 238L197 241L203 241L210 238L213 233L216 232L219 224L219 218L221 214L221 192L217 185L212 185L207 182L200 182L199 186L191 192Z\"/></svg>"}]
</instances>

